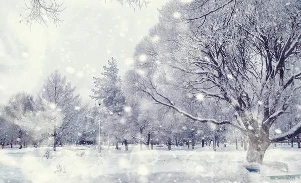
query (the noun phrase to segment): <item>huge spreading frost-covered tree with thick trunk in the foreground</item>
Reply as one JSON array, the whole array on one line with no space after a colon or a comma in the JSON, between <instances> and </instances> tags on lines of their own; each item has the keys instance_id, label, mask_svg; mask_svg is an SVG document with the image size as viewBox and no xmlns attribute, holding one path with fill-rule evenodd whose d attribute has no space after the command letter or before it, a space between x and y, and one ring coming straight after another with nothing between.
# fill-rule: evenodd
<instances>
[{"instance_id":1,"label":"huge spreading frost-covered tree with thick trunk in the foreground","mask_svg":"<svg viewBox=\"0 0 301 183\"><path fill-rule=\"evenodd\" d=\"M210 2L216 7L207 9ZM269 137L271 126L300 97L300 6L299 1L280 0L172 1L160 11L160 23L137 45L135 84L194 122L239 129L248 136L247 161L262 163L270 143L301 131L299 122ZM165 85L155 79L163 71L169 73ZM178 81L170 88L212 98L213 104L219 100L235 113L217 119L188 112L174 102L170 90L162 89L170 77Z\"/></svg>"}]
</instances>

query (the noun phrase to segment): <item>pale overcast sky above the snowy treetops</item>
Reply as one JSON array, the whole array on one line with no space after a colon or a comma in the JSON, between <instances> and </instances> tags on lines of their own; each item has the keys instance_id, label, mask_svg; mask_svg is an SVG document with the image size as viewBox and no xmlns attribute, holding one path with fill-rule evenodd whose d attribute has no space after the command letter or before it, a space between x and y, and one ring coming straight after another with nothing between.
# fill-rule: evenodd
<instances>
[{"instance_id":1,"label":"pale overcast sky above the snowy treetops","mask_svg":"<svg viewBox=\"0 0 301 183\"><path fill-rule=\"evenodd\" d=\"M92 76L114 57L120 75L138 41L158 22L158 8L167 0L153 0L142 10L100 0L61 0L66 10L59 27L20 24L23 0L10 0L0 7L0 103L19 91L36 96L43 80L55 69L77 86L90 101Z\"/></svg>"}]
</instances>

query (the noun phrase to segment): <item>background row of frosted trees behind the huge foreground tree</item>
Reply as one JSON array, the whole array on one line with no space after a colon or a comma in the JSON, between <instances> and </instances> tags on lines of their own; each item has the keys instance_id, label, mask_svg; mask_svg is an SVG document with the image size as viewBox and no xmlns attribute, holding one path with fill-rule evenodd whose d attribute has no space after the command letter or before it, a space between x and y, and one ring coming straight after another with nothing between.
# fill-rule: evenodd
<instances>
[{"instance_id":1,"label":"background row of frosted trees behind the huge foreground tree","mask_svg":"<svg viewBox=\"0 0 301 183\"><path fill-rule=\"evenodd\" d=\"M154 144L192 145L202 143L203 147L213 142L214 150L225 139L235 141L225 126L192 123L184 115L166 106L155 104L151 99L132 87L132 80L124 81L118 76L117 61L108 60L102 77L94 77L95 88L91 99L100 106L89 107L82 103L75 87L66 82L66 77L56 70L45 79L36 97L25 92L13 95L1 108L2 144L17 141L17 144L40 146L78 144L80 141L98 139L98 123L102 132L101 142L106 145L118 142L139 143L147 149ZM184 103L188 104L188 103ZM190 106L191 107L191 106ZM204 113L218 111L214 106L199 106ZM214 114L214 115L217 115ZM236 138L243 139L237 133Z\"/></svg>"}]
</instances>

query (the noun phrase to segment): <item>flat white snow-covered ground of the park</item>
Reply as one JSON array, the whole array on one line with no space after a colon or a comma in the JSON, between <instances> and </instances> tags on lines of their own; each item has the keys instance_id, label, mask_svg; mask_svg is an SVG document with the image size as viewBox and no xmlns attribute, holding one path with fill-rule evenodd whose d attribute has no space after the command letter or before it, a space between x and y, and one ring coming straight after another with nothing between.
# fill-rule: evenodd
<instances>
[{"instance_id":1,"label":"flat white snow-covered ground of the park","mask_svg":"<svg viewBox=\"0 0 301 183\"><path fill-rule=\"evenodd\" d=\"M121 148L123 148L121 146ZM143 147L145 149L145 147ZM237 161L246 152L234 145L199 147L195 150L156 147L140 151L129 146L128 151L104 147L97 157L96 147L58 147L51 159L42 158L47 147L0 149L0 183L3 182L301 182L270 180L269 175L301 174L301 150L288 145L268 149L266 161L288 164L289 172L261 167L261 174L249 173ZM51 149L51 148L50 148ZM85 152L84 155L80 155ZM58 168L57 166L61 167Z\"/></svg>"}]
</instances>

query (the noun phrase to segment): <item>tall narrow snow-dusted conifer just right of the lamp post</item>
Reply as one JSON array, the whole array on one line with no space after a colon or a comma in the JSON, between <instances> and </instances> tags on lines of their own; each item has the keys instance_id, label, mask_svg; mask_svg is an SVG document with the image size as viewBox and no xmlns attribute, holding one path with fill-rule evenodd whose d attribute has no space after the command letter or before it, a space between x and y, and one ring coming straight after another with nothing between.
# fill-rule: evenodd
<instances>
[{"instance_id":1,"label":"tall narrow snow-dusted conifer just right of the lamp post","mask_svg":"<svg viewBox=\"0 0 301 183\"><path fill-rule=\"evenodd\" d=\"M114 58L108 60L108 66L103 66L104 72L102 77L93 77L95 88L92 89L94 100L100 100L101 105L105 109L101 112L105 118L102 121L104 129L114 136L116 139L116 148L118 148L118 141L125 141L127 144L128 136L126 116L125 98L121 90L121 79L118 76L117 61ZM105 111L107 111L106 114ZM111 128L113 127L113 128ZM112 130L110 132L110 130ZM127 148L127 147L126 147Z\"/></svg>"}]
</instances>

